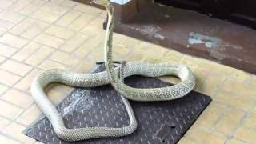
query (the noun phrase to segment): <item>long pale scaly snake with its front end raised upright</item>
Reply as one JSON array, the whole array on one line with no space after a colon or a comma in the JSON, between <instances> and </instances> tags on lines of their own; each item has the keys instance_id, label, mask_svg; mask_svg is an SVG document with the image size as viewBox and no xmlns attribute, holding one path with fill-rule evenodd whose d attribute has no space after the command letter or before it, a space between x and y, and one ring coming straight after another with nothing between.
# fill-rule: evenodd
<instances>
[{"instance_id":1,"label":"long pale scaly snake with its front end raised upright","mask_svg":"<svg viewBox=\"0 0 256 144\"><path fill-rule=\"evenodd\" d=\"M46 70L34 79L31 85L31 94L35 103L42 110L42 113L49 119L58 138L64 141L79 141L90 138L121 137L131 134L137 128L137 121L134 112L127 99L140 102L169 101L182 98L190 93L195 86L195 78L189 68L181 64L159 63L150 64L144 62L127 62L121 66L114 66L112 58L112 39L114 28L114 7L110 0L94 0L93 2L106 8L108 22L106 26L105 39L105 66L106 71L95 74L78 74L66 70ZM138 89L127 86L123 78L131 75L142 75L146 77L159 77L174 75L181 79L181 82L174 86L159 87L152 89ZM94 87L111 84L117 90L126 107L130 124L125 127L85 127L69 129L66 128L62 115L50 99L46 96L44 88L52 82L59 82L75 87Z\"/></svg>"}]
</instances>

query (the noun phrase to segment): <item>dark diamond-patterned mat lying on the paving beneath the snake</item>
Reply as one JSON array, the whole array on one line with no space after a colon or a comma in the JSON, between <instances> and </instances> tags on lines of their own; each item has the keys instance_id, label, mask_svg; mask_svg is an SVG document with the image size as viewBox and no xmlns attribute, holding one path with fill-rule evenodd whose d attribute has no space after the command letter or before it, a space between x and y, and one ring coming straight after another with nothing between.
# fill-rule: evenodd
<instances>
[{"instance_id":1,"label":"dark diamond-patterned mat lying on the paving beneath the snake","mask_svg":"<svg viewBox=\"0 0 256 144\"><path fill-rule=\"evenodd\" d=\"M95 72L104 70L98 66ZM156 78L132 76L125 79L126 84L138 88L170 86ZM24 134L45 143L177 143L186 130L192 126L199 114L209 105L211 98L204 94L191 92L184 98L169 102L133 102L138 129L126 137L95 138L79 142L64 142L54 134L47 118L38 118L24 130ZM121 127L129 124L125 106L118 93L110 86L93 89L76 89L58 106L66 127L88 126Z\"/></svg>"}]
</instances>

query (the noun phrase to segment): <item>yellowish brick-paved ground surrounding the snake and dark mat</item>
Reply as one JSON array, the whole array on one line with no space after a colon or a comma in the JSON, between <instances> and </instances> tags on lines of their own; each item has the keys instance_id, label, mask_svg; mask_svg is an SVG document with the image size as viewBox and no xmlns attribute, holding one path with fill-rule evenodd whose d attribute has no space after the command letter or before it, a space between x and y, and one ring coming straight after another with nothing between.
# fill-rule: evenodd
<instances>
[{"instance_id":1,"label":"yellowish brick-paved ground surrounding the snake and dark mat","mask_svg":"<svg viewBox=\"0 0 256 144\"><path fill-rule=\"evenodd\" d=\"M43 70L86 72L102 61L104 17L102 10L70 0L0 0L0 143L38 143L21 134L41 114L30 97L31 81ZM114 57L180 62L194 71L196 90L214 101L180 143L256 142L254 75L120 34ZM71 90L55 84L46 91L58 103Z\"/></svg>"}]
</instances>

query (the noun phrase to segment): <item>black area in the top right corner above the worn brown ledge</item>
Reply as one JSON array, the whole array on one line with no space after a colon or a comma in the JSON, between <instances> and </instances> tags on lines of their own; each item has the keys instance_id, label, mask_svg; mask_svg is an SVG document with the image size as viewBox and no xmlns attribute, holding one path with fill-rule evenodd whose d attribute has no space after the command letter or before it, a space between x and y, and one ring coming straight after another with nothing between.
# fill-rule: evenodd
<instances>
[{"instance_id":1,"label":"black area in the top right corner above the worn brown ledge","mask_svg":"<svg viewBox=\"0 0 256 144\"><path fill-rule=\"evenodd\" d=\"M154 2L198 11L256 30L256 1L254 0L154 0Z\"/></svg>"}]
</instances>

